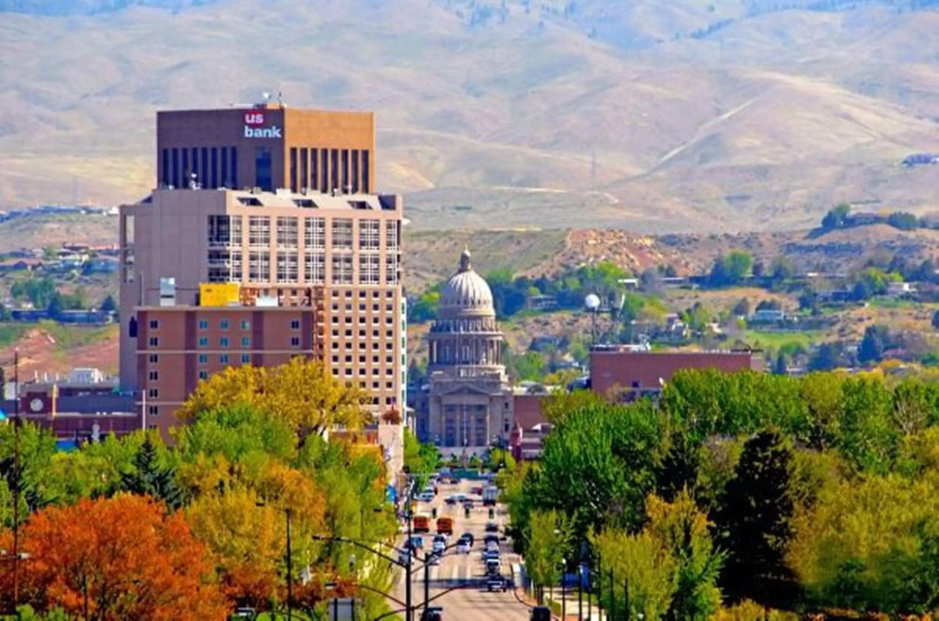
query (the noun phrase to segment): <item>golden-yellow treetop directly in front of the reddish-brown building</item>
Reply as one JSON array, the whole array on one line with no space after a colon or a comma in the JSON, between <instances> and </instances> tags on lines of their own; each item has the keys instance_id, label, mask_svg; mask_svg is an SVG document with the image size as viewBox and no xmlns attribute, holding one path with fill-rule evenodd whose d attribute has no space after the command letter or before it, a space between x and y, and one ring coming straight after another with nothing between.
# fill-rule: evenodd
<instances>
[{"instance_id":1,"label":"golden-yellow treetop directly in front of the reddish-brown building","mask_svg":"<svg viewBox=\"0 0 939 621\"><path fill-rule=\"evenodd\" d=\"M271 369L246 365L212 375L196 386L178 416L192 422L200 413L246 404L290 424L302 442L334 425L360 427L366 401L358 386L336 379L316 360L297 357Z\"/></svg>"}]
</instances>

